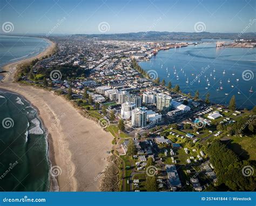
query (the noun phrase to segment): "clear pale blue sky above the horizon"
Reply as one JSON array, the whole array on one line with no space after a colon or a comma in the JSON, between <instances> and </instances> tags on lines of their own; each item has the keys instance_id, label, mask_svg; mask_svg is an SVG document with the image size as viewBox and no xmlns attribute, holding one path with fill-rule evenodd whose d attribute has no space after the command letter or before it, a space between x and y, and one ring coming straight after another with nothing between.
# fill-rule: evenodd
<instances>
[{"instance_id":1,"label":"clear pale blue sky above the horizon","mask_svg":"<svg viewBox=\"0 0 256 206\"><path fill-rule=\"evenodd\" d=\"M256 32L256 1L0 0L0 26L0 33L48 36L140 31Z\"/></svg>"}]
</instances>

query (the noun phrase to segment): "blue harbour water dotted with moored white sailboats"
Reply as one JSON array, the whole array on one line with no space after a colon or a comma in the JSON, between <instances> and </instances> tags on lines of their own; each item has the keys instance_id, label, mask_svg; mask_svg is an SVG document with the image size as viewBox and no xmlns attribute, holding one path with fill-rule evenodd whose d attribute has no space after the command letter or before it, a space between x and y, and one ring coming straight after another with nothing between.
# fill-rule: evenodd
<instances>
[{"instance_id":1,"label":"blue harbour water dotted with moored white sailboats","mask_svg":"<svg viewBox=\"0 0 256 206\"><path fill-rule=\"evenodd\" d=\"M159 51L139 65L153 78L165 79L166 85L178 84L184 93L194 95L198 90L203 99L210 93L211 102L223 105L235 95L238 108L255 106L256 48L216 48L215 42L203 43Z\"/></svg>"}]
</instances>

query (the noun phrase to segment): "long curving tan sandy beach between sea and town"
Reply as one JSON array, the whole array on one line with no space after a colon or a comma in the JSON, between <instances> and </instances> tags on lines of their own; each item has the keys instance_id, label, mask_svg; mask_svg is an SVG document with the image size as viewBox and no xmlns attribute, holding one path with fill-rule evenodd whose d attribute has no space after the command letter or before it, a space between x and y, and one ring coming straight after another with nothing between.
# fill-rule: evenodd
<instances>
[{"instance_id":1,"label":"long curving tan sandy beach between sea and town","mask_svg":"<svg viewBox=\"0 0 256 206\"><path fill-rule=\"evenodd\" d=\"M0 89L22 95L37 108L49 133L49 159L60 170L59 191L99 191L99 173L107 164L106 152L113 139L96 122L84 118L70 102L53 92L13 82L15 67L49 54L55 44L38 56L3 67L6 73ZM9 73L8 73L9 72Z\"/></svg>"}]
</instances>

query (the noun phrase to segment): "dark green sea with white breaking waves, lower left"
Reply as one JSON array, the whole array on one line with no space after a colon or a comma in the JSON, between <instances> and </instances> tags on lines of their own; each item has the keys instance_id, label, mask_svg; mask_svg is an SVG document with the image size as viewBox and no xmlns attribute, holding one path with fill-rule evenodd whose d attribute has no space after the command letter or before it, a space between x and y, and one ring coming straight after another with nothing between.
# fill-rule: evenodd
<instances>
[{"instance_id":1,"label":"dark green sea with white breaking waves, lower left","mask_svg":"<svg viewBox=\"0 0 256 206\"><path fill-rule=\"evenodd\" d=\"M49 190L46 138L36 109L0 91L0 191Z\"/></svg>"}]
</instances>

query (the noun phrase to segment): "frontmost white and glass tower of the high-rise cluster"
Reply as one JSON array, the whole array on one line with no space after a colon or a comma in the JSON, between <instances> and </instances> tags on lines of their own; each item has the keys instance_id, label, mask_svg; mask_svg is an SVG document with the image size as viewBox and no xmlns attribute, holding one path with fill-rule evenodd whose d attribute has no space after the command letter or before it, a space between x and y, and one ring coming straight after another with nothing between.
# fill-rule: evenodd
<instances>
[{"instance_id":1,"label":"frontmost white and glass tower of the high-rise cluster","mask_svg":"<svg viewBox=\"0 0 256 206\"><path fill-rule=\"evenodd\" d=\"M137 107L132 111L132 126L145 127L147 123L147 111L143 108Z\"/></svg>"}]
</instances>

